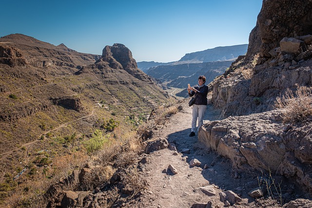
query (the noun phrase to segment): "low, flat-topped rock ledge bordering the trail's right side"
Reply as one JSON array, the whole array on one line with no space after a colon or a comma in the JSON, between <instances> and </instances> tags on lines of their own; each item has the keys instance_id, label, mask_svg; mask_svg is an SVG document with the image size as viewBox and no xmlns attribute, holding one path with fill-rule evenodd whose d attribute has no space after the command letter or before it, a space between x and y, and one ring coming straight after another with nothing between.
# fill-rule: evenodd
<instances>
[{"instance_id":1,"label":"low, flat-topped rock ledge bordering the trail's right side","mask_svg":"<svg viewBox=\"0 0 312 208\"><path fill-rule=\"evenodd\" d=\"M198 132L198 139L230 158L234 170L255 169L285 175L312 194L310 122L308 119L302 126L285 125L277 110L230 116L205 124Z\"/></svg>"}]
</instances>

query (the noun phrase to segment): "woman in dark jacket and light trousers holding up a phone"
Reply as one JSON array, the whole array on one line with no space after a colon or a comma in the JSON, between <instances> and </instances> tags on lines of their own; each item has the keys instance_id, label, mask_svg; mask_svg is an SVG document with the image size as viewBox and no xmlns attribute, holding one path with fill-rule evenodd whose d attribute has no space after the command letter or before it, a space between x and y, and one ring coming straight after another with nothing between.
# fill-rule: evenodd
<instances>
[{"instance_id":1,"label":"woman in dark jacket and light trousers holding up a phone","mask_svg":"<svg viewBox=\"0 0 312 208\"><path fill-rule=\"evenodd\" d=\"M193 112L192 112L192 131L190 133L190 136L195 136L197 117L198 117L197 131L201 127L201 125L203 125L204 113L207 109L207 94L208 94L208 87L205 85L205 82L206 77L199 76L198 85L196 85L195 87L188 87L187 89L190 97L195 95L195 103L193 104Z\"/></svg>"}]
</instances>

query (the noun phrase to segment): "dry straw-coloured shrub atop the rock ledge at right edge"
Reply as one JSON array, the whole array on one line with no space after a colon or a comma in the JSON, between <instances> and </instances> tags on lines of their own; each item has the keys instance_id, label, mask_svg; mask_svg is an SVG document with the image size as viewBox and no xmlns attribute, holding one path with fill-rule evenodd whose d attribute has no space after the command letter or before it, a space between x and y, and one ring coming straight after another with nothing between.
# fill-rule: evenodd
<instances>
[{"instance_id":1,"label":"dry straw-coloured shrub atop the rock ledge at right edge","mask_svg":"<svg viewBox=\"0 0 312 208\"><path fill-rule=\"evenodd\" d=\"M300 123L312 115L312 87L296 86L295 94L288 88L285 95L276 98L275 107L283 110L283 123Z\"/></svg>"}]
</instances>

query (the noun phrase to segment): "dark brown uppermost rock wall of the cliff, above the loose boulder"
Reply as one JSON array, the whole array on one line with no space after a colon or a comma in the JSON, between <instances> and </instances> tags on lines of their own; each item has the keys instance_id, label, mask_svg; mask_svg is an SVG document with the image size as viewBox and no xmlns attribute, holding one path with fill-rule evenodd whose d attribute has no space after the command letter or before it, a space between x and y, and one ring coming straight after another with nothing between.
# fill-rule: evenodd
<instances>
[{"instance_id":1,"label":"dark brown uppermost rock wall of the cliff, above the loose boulder","mask_svg":"<svg viewBox=\"0 0 312 208\"><path fill-rule=\"evenodd\" d=\"M262 41L260 57L272 57L269 52L284 37L312 34L311 20L311 0L264 0L257 19Z\"/></svg>"}]
</instances>

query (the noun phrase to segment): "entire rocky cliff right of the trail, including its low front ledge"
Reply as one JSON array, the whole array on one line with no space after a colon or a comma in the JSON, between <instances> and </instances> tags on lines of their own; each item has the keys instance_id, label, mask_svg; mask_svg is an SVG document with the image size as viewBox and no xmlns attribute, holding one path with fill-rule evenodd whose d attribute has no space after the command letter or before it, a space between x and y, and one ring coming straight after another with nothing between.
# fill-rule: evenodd
<instances>
[{"instance_id":1,"label":"entire rocky cliff right of the trail, including its low front ledge","mask_svg":"<svg viewBox=\"0 0 312 208\"><path fill-rule=\"evenodd\" d=\"M285 175L309 194L311 118L285 124L274 105L287 89L312 86L311 14L310 0L263 1L246 56L209 86L225 119L199 132L199 140L230 158L234 170Z\"/></svg>"}]
</instances>

